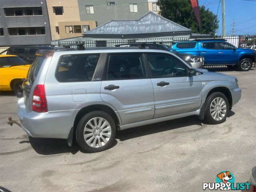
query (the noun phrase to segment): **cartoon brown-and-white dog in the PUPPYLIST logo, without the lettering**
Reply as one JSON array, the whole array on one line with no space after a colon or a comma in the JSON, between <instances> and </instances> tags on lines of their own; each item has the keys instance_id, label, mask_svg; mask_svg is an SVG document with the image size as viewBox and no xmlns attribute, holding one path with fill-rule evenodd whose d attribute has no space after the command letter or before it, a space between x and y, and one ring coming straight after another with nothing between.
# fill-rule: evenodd
<instances>
[{"instance_id":1,"label":"cartoon brown-and-white dog in the PUPPYLIST logo, without the lettering","mask_svg":"<svg viewBox=\"0 0 256 192\"><path fill-rule=\"evenodd\" d=\"M222 171L217 175L216 182L225 185L225 187L221 185L220 190L229 191L231 189L231 183L235 182L235 178L229 171Z\"/></svg>"}]
</instances>

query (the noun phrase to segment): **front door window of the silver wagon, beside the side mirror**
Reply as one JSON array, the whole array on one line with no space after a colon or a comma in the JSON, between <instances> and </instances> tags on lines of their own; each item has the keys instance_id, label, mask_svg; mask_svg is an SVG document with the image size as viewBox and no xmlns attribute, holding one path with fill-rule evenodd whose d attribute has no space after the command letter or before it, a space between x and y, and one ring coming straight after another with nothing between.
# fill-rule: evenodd
<instances>
[{"instance_id":1,"label":"front door window of the silver wagon, beside the side mirror","mask_svg":"<svg viewBox=\"0 0 256 192\"><path fill-rule=\"evenodd\" d=\"M152 78L188 76L188 68L167 54L146 54Z\"/></svg>"}]
</instances>

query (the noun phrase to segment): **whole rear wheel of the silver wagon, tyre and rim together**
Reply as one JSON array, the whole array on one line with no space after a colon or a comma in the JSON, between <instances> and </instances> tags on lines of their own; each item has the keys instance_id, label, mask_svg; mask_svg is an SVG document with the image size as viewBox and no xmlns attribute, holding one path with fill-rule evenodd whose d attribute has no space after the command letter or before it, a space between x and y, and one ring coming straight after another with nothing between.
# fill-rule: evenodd
<instances>
[{"instance_id":1,"label":"whole rear wheel of the silver wagon, tyre and rim together","mask_svg":"<svg viewBox=\"0 0 256 192\"><path fill-rule=\"evenodd\" d=\"M104 111L93 111L83 116L76 129L76 141L86 152L108 149L116 137L113 118Z\"/></svg>"}]
</instances>

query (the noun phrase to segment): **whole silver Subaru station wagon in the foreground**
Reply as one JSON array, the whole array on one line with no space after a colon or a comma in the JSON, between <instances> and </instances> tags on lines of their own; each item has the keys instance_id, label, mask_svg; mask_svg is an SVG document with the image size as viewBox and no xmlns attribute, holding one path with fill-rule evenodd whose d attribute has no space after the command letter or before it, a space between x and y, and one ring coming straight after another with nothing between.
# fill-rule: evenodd
<instances>
[{"instance_id":1,"label":"whole silver Subaru station wagon in the foreground","mask_svg":"<svg viewBox=\"0 0 256 192\"><path fill-rule=\"evenodd\" d=\"M18 116L31 137L73 138L106 150L116 130L197 115L226 120L241 97L233 76L192 69L164 50L40 50L22 84Z\"/></svg>"}]
</instances>

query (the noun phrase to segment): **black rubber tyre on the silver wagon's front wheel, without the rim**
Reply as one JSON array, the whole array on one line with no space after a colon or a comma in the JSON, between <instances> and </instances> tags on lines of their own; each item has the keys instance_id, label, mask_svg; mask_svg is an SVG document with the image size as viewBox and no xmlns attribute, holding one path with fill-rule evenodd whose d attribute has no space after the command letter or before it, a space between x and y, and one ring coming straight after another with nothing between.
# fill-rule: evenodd
<instances>
[{"instance_id":1,"label":"black rubber tyre on the silver wagon's front wheel, without the rim","mask_svg":"<svg viewBox=\"0 0 256 192\"><path fill-rule=\"evenodd\" d=\"M226 102L226 114L224 115L224 117L221 120L214 120L214 118L211 116L211 113L210 113L211 104L212 104L213 100L216 98L222 98ZM204 121L206 123L220 124L226 120L228 112L229 112L229 103L228 103L227 97L223 93L214 92L214 93L210 94L210 96L208 96L208 98L206 99L205 103L206 103L206 106L204 109Z\"/></svg>"}]
</instances>

